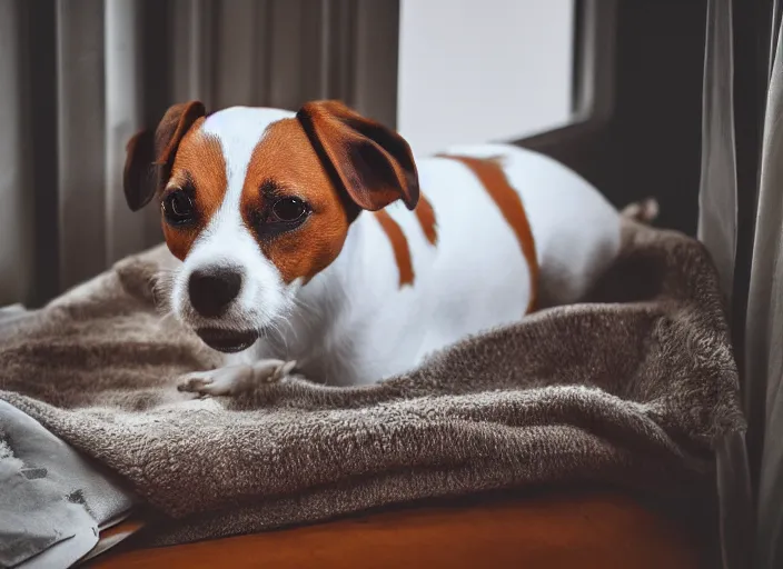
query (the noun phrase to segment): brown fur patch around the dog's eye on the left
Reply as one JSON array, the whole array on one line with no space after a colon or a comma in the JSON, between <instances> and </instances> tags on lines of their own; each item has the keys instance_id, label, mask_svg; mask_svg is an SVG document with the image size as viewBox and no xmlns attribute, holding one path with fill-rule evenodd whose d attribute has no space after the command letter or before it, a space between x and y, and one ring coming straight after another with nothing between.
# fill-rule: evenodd
<instances>
[{"instance_id":1,"label":"brown fur patch around the dog's eye on the left","mask_svg":"<svg viewBox=\"0 0 783 569\"><path fill-rule=\"evenodd\" d=\"M192 227L178 228L162 220L166 243L180 260L187 257L194 241L222 203L228 186L220 142L201 130L202 123L204 118L196 121L179 143L171 177L162 194L165 199L169 188L192 186L198 222Z\"/></svg>"}]
</instances>

